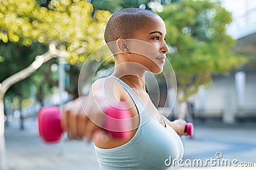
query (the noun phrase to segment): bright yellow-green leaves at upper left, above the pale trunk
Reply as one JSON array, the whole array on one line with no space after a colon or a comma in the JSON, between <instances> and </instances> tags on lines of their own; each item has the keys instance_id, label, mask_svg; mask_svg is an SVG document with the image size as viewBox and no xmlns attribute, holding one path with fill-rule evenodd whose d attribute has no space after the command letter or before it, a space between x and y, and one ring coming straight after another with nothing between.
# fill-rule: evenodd
<instances>
[{"instance_id":1,"label":"bright yellow-green leaves at upper left, above the pale trunk","mask_svg":"<svg viewBox=\"0 0 256 170\"><path fill-rule=\"evenodd\" d=\"M69 56L71 64L75 64L104 43L103 32L111 14L97 11L92 18L92 10L92 4L80 0L53 0L49 9L33 0L3 0L0 39L4 43L13 41L25 46L33 42L46 45L56 42L60 50L68 53L86 48L81 58Z\"/></svg>"}]
</instances>

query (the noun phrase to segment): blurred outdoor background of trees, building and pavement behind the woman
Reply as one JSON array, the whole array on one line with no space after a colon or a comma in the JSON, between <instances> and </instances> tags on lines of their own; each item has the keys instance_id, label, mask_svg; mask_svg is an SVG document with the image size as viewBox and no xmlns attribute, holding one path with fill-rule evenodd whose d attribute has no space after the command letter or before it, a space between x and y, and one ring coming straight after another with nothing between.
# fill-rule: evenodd
<instances>
[{"instance_id":1,"label":"blurred outdoor background of trees, building and pavement behind the woman","mask_svg":"<svg viewBox=\"0 0 256 170\"><path fill-rule=\"evenodd\" d=\"M182 137L184 160L221 152L221 159L246 163L240 168L255 168L255 1L0 0L0 169L99 169L92 143L64 135L60 144L46 144L36 118L43 106L78 97L79 71L104 45L111 13L122 8L155 11L166 23L177 88L159 74L160 98L148 92L159 111L172 111L170 120L195 125L193 137ZM104 55L86 62L84 95L113 67Z\"/></svg>"}]
</instances>

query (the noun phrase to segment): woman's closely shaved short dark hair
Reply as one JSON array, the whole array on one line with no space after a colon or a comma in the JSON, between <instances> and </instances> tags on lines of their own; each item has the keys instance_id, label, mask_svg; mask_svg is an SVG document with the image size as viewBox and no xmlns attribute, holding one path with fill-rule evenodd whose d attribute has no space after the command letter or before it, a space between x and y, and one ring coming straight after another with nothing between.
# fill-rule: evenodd
<instances>
[{"instance_id":1,"label":"woman's closely shaved short dark hair","mask_svg":"<svg viewBox=\"0 0 256 170\"><path fill-rule=\"evenodd\" d=\"M106 43L116 41L118 38L132 39L134 31L140 29L148 18L156 16L158 16L156 13L140 8L125 8L116 11L108 20L104 39Z\"/></svg>"}]
</instances>

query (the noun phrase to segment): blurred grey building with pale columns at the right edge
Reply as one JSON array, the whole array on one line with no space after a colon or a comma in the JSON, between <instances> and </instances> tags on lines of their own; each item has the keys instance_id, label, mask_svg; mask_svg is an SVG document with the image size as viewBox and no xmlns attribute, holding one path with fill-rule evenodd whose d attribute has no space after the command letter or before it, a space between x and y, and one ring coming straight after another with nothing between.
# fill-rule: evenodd
<instances>
[{"instance_id":1,"label":"blurred grey building with pale columns at the right edge","mask_svg":"<svg viewBox=\"0 0 256 170\"><path fill-rule=\"evenodd\" d=\"M237 39L236 52L250 62L228 76L214 76L191 100L198 118L220 118L225 123L256 118L256 1L220 0L232 13L228 34Z\"/></svg>"}]
</instances>

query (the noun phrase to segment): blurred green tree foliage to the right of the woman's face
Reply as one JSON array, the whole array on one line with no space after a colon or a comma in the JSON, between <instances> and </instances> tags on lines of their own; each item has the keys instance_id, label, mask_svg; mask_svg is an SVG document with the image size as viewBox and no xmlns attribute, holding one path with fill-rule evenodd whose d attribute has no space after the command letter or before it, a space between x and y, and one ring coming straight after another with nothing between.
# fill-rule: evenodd
<instances>
[{"instance_id":1,"label":"blurred green tree foliage to the right of the woman's face","mask_svg":"<svg viewBox=\"0 0 256 170\"><path fill-rule=\"evenodd\" d=\"M166 23L166 42L170 45L168 57L178 86L188 96L211 81L212 74L227 74L247 61L232 52L236 41L226 32L232 18L218 4L179 1L164 6L159 15Z\"/></svg>"}]
</instances>

